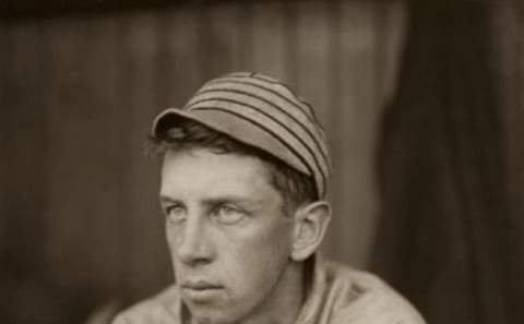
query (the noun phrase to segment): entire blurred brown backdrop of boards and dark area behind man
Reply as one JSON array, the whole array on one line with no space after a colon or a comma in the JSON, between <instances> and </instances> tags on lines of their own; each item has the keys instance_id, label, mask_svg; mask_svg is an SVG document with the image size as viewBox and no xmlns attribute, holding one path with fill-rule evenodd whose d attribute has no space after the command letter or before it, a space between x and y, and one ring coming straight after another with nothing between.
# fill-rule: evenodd
<instances>
[{"instance_id":1,"label":"entire blurred brown backdrop of boards and dark area behind man","mask_svg":"<svg viewBox=\"0 0 524 324\"><path fill-rule=\"evenodd\" d=\"M378 273L430 323L522 323L517 1L4 3L2 323L105 323L172 280L143 141L228 71L285 81L324 124L323 254Z\"/></svg>"}]
</instances>

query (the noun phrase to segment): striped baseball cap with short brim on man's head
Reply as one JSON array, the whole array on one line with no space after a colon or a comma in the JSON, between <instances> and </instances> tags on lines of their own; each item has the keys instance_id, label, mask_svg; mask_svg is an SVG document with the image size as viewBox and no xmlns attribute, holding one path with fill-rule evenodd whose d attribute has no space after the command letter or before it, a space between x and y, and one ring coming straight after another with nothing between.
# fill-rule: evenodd
<instances>
[{"instance_id":1,"label":"striped baseball cap with short brim on man's head","mask_svg":"<svg viewBox=\"0 0 524 324\"><path fill-rule=\"evenodd\" d=\"M284 83L252 72L206 82L182 108L162 111L152 135L165 136L181 119L262 149L314 179L325 197L331 175L329 143L312 107Z\"/></svg>"}]
</instances>

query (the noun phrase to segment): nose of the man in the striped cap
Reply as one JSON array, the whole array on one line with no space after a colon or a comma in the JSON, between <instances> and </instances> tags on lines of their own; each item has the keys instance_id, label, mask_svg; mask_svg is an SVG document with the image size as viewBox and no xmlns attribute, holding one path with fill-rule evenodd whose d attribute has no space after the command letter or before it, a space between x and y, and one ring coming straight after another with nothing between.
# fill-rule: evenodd
<instances>
[{"instance_id":1,"label":"nose of the man in the striped cap","mask_svg":"<svg viewBox=\"0 0 524 324\"><path fill-rule=\"evenodd\" d=\"M212 261L213 244L204 217L188 217L176 241L178 259L186 265L194 267Z\"/></svg>"}]
</instances>

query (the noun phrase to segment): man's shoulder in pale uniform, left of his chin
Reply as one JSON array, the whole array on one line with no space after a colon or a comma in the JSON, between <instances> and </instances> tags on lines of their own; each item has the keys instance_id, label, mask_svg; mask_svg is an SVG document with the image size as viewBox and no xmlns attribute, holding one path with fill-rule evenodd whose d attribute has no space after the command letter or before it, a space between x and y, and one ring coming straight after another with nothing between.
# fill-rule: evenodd
<instances>
[{"instance_id":1,"label":"man's shoulder in pale uniform, left of his chin","mask_svg":"<svg viewBox=\"0 0 524 324\"><path fill-rule=\"evenodd\" d=\"M175 286L119 313L112 324L181 323L180 299Z\"/></svg>"}]
</instances>

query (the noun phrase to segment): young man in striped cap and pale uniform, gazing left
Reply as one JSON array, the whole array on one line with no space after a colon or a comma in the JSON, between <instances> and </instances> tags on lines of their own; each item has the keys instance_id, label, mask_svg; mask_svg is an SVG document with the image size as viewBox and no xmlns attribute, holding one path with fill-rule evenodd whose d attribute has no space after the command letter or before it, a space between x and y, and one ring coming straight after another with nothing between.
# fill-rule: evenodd
<instances>
[{"instance_id":1,"label":"young man in striped cap and pale uniform, gazing left","mask_svg":"<svg viewBox=\"0 0 524 324\"><path fill-rule=\"evenodd\" d=\"M331 157L312 108L281 82L231 73L154 121L175 284L115 324L424 323L377 277L317 250Z\"/></svg>"}]
</instances>

